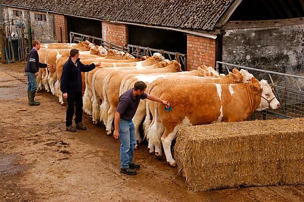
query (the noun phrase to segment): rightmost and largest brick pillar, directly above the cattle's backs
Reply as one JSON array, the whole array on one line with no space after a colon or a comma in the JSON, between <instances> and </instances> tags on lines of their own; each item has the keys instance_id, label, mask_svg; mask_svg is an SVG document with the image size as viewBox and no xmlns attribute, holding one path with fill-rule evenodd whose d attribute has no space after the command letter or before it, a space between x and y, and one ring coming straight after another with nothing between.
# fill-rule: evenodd
<instances>
[{"instance_id":1,"label":"rightmost and largest brick pillar, directly above the cattle's backs","mask_svg":"<svg viewBox=\"0 0 304 202\"><path fill-rule=\"evenodd\" d=\"M215 39L187 35L187 70L215 66Z\"/></svg>"}]
</instances>

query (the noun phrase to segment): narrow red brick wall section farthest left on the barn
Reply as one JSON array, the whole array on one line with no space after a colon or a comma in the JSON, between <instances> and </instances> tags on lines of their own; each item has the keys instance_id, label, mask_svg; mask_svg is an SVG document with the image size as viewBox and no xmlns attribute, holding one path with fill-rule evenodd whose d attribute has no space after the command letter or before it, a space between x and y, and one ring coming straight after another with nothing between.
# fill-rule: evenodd
<instances>
[{"instance_id":1,"label":"narrow red brick wall section farthest left on the barn","mask_svg":"<svg viewBox=\"0 0 304 202\"><path fill-rule=\"evenodd\" d=\"M54 14L54 25L55 39L62 43L68 43L66 17L64 15Z\"/></svg>"}]
</instances>

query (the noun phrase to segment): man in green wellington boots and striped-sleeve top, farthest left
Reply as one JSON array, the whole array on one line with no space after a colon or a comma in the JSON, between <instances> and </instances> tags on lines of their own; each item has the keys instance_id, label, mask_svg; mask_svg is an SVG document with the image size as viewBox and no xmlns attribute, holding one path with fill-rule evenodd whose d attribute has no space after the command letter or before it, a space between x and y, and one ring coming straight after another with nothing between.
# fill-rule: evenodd
<instances>
[{"instance_id":1,"label":"man in green wellington boots and striped-sleeve top, farthest left","mask_svg":"<svg viewBox=\"0 0 304 202\"><path fill-rule=\"evenodd\" d=\"M37 78L36 76L39 75L39 68L46 68L51 67L50 65L40 63L38 50L40 49L40 41L33 40L32 46L33 49L30 50L27 63L25 66L25 75L27 76L27 97L28 97L28 104L31 106L40 105L39 101L34 101L35 93L37 91Z\"/></svg>"}]
</instances>

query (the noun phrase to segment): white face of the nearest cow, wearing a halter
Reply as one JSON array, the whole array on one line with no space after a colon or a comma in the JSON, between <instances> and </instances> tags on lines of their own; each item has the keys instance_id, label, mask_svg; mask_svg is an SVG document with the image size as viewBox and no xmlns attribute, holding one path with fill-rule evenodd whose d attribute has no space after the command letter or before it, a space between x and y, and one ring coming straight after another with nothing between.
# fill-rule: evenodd
<instances>
[{"instance_id":1,"label":"white face of the nearest cow, wearing a halter","mask_svg":"<svg viewBox=\"0 0 304 202\"><path fill-rule=\"evenodd\" d=\"M279 108L281 104L275 97L271 86L267 83L267 80L261 80L259 82L259 85L260 88L262 89L262 93L261 93L262 97L261 97L261 103L256 110L261 111L264 109L268 109L269 106L271 109Z\"/></svg>"}]
</instances>

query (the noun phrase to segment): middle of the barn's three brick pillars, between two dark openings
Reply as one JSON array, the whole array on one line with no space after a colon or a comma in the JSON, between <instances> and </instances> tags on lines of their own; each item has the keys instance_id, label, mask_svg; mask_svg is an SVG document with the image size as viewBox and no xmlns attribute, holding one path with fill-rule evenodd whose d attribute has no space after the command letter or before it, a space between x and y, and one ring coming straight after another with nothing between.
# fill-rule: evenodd
<instances>
[{"instance_id":1,"label":"middle of the barn's three brick pillars, between two dark openings","mask_svg":"<svg viewBox=\"0 0 304 202\"><path fill-rule=\"evenodd\" d=\"M124 24L102 22L102 38L113 44L124 46L128 44L128 27Z\"/></svg>"}]
</instances>

